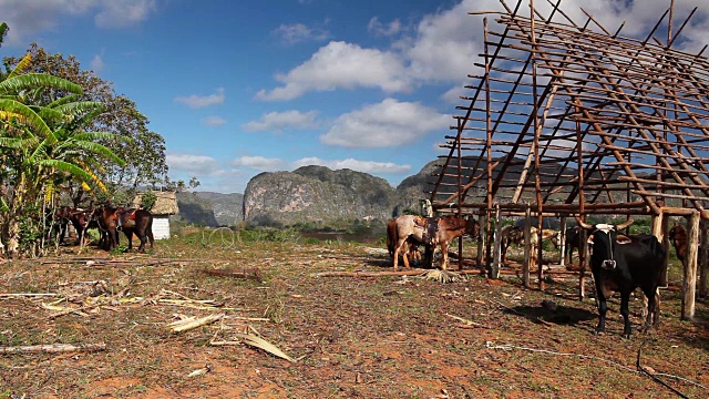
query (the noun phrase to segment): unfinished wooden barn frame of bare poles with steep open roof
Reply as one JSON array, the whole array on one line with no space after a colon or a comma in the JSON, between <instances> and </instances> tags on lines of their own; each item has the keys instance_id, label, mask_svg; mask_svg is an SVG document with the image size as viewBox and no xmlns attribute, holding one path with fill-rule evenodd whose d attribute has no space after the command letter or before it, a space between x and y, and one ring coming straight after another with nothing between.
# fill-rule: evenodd
<instances>
[{"instance_id":1,"label":"unfinished wooden barn frame of bare poles with steep open roof","mask_svg":"<svg viewBox=\"0 0 709 399\"><path fill-rule=\"evenodd\" d=\"M455 134L445 136L433 208L484 217L489 237L495 213L527 213L537 225L545 216L565 224L595 214L649 215L666 247L668 217L684 216L690 238L698 237L699 221L709 219L709 60L701 55L706 47L698 54L674 48L696 9L674 31L670 3L638 40L623 37L623 25L609 31L583 9L586 18L577 23L558 0L547 14L534 0L501 3L503 12L471 12L494 16L500 31L484 19L484 53L475 63L484 73L469 75L473 84L456 108ZM660 28L666 40L657 37ZM496 273L491 243L486 254ZM541 255L542 248L532 254ZM695 241L688 258L691 318ZM706 279L702 274L705 290ZM543 289L542 267L538 284Z\"/></svg>"}]
</instances>

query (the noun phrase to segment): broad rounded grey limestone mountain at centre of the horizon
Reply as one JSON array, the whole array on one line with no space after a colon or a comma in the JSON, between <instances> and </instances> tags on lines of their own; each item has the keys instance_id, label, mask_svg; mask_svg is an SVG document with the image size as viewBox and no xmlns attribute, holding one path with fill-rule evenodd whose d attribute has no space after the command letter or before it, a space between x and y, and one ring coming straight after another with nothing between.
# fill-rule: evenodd
<instances>
[{"instance_id":1,"label":"broad rounded grey limestone mountain at centre of the horizon","mask_svg":"<svg viewBox=\"0 0 709 399\"><path fill-rule=\"evenodd\" d=\"M302 166L251 178L244 192L244 218L253 225L388 219L394 198L394 190L381 177L351 170Z\"/></svg>"}]
</instances>

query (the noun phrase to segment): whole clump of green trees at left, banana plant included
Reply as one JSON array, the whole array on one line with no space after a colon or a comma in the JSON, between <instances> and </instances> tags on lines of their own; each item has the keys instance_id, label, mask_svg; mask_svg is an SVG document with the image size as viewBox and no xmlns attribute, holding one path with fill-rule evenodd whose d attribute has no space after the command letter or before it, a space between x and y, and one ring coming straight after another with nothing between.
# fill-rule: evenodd
<instances>
[{"instance_id":1,"label":"whole clump of green trees at left, banana plant included","mask_svg":"<svg viewBox=\"0 0 709 399\"><path fill-rule=\"evenodd\" d=\"M0 24L0 47L8 33ZM31 44L0 68L0 247L42 252L48 211L129 204L167 178L165 140L136 104L73 57ZM184 186L184 182L182 183ZM66 202L71 202L68 204Z\"/></svg>"}]
</instances>

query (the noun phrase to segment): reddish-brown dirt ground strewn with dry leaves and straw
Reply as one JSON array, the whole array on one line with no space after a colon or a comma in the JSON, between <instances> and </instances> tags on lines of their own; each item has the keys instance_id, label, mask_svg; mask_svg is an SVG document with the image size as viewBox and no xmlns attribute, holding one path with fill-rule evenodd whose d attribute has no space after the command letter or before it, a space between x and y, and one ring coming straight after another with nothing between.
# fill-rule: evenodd
<instances>
[{"instance_id":1,"label":"reddish-brown dirt ground strewn with dry leaves and straw","mask_svg":"<svg viewBox=\"0 0 709 399\"><path fill-rule=\"evenodd\" d=\"M449 284L315 276L391 272L383 246L341 242L187 237L145 255L61 252L0 264L0 350L86 350L0 354L0 398L709 397L709 308L700 300L696 320L681 321L676 275L658 329L637 332L641 301L631 303L628 340L617 297L607 334L593 334L594 299L576 299L575 276L554 276L544 293L514 274ZM223 317L183 332L168 326L209 315Z\"/></svg>"}]
</instances>

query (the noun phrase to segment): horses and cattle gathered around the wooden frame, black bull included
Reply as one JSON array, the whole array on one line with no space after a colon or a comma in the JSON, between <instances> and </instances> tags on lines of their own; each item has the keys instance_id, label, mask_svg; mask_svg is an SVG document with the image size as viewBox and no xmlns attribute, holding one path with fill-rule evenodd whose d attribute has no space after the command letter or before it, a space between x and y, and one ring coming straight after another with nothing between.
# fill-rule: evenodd
<instances>
[{"instance_id":1,"label":"horses and cattle gathered around the wooden frame, black bull included","mask_svg":"<svg viewBox=\"0 0 709 399\"><path fill-rule=\"evenodd\" d=\"M647 298L647 314L645 328L657 325L659 318L659 295L664 259L666 256L662 245L657 237L649 234L626 235L620 233L633 223L628 219L619 225L587 224L577 219L577 226L568 227L565 234L564 257L571 258L573 249L583 248L582 229L587 233L589 264L596 286L596 303L599 320L596 331L602 334L606 328L607 299L614 294L620 294L620 314L624 317L623 336L630 337L630 321L628 304L630 294L640 288ZM387 226L387 246L393 259L394 270L399 268L401 255L404 266L409 266L409 257L415 258L418 246L425 247L425 266L431 266L433 248L441 246L441 268L448 264L448 246L454 238L462 235L473 238L480 236L480 224L474 219L462 219L455 216L421 217L403 215ZM530 245L538 246L544 239L551 239L555 246L561 245L561 233L543 229L540 234L532 227ZM501 234L501 254L503 264L511 243L523 244L524 233L521 227L506 226ZM676 244L676 241L672 241ZM534 253L534 252L533 252ZM679 254L679 249L678 249Z\"/></svg>"}]
</instances>

